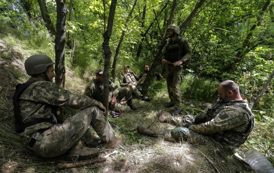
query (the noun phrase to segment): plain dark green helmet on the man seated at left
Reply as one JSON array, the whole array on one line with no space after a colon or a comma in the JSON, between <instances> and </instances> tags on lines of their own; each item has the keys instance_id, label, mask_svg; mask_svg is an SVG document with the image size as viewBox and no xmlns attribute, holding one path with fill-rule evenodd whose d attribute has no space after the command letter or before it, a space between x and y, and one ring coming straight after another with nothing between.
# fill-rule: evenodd
<instances>
[{"instance_id":1,"label":"plain dark green helmet on the man seated at left","mask_svg":"<svg viewBox=\"0 0 274 173\"><path fill-rule=\"evenodd\" d=\"M55 64L47 55L32 55L25 61L25 69L28 75L44 73L50 65Z\"/></svg>"}]
</instances>

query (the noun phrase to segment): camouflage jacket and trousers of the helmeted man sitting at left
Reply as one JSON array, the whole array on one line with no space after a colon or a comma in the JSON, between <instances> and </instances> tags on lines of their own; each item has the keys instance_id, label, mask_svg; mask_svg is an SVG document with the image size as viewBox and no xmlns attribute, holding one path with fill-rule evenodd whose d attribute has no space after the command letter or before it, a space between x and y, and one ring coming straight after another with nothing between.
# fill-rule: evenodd
<instances>
[{"instance_id":1,"label":"camouflage jacket and trousers of the helmeted man sitting at left","mask_svg":"<svg viewBox=\"0 0 274 173\"><path fill-rule=\"evenodd\" d=\"M102 141L115 139L115 132L97 107L100 102L88 96L73 94L49 81L35 81L19 97L19 110L24 123L39 118L52 118L52 123L43 122L29 126L19 133L25 141L35 141L29 148L37 155L55 157L67 152L80 140L90 125ZM63 122L63 115L58 106L81 109L73 117ZM55 113L54 113L55 112Z\"/></svg>"}]
</instances>

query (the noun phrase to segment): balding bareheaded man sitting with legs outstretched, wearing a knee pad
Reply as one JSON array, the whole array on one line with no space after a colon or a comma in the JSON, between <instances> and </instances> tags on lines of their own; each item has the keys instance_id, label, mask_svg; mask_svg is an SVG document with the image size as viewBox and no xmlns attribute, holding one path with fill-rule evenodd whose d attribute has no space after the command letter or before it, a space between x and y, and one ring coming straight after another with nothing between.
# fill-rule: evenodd
<instances>
[{"instance_id":1,"label":"balding bareheaded man sitting with legs outstretched, wearing a knee pad","mask_svg":"<svg viewBox=\"0 0 274 173\"><path fill-rule=\"evenodd\" d=\"M176 124L174 129L152 131L138 125L137 131L143 135L163 136L165 140L188 140L190 143L221 143L230 149L243 144L255 124L246 98L242 98L239 86L233 81L223 81L218 86L220 99L207 110L207 114L189 118L171 118L161 115L160 122Z\"/></svg>"}]
</instances>

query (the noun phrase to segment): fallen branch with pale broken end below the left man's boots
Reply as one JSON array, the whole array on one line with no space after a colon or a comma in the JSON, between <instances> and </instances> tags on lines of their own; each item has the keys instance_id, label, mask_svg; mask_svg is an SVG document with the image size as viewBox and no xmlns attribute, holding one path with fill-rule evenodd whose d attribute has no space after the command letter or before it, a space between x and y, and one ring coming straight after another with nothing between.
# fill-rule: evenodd
<instances>
[{"instance_id":1,"label":"fallen branch with pale broken end below the left man's boots","mask_svg":"<svg viewBox=\"0 0 274 173\"><path fill-rule=\"evenodd\" d=\"M115 153L118 153L119 151L113 151L112 153L109 153L108 155L101 157L101 158L96 158L96 159L91 159L88 161L84 161L84 162L76 162L76 163L65 163L65 164L58 164L57 168L58 169L65 169L65 168L76 168L76 167L80 167L80 166L86 166L86 165L90 165L90 164L94 164L94 163L98 163L98 162L104 162L106 161L106 159L110 156L113 155Z\"/></svg>"}]
</instances>

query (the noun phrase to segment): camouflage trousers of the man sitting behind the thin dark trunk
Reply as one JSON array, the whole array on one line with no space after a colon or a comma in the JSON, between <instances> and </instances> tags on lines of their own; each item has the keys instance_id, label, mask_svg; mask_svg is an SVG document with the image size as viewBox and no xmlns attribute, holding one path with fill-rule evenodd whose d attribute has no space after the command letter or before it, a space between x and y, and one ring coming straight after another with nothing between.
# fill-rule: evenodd
<instances>
[{"instance_id":1,"label":"camouflage trousers of the man sitting behind the thin dark trunk","mask_svg":"<svg viewBox=\"0 0 274 173\"><path fill-rule=\"evenodd\" d=\"M118 98L114 106L109 105L109 108L115 112L129 112L130 107L126 104L120 103L120 101L125 98L126 100L132 99L131 90L128 87L119 88Z\"/></svg>"}]
</instances>

